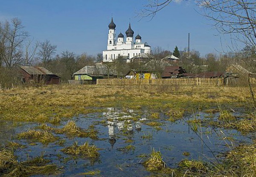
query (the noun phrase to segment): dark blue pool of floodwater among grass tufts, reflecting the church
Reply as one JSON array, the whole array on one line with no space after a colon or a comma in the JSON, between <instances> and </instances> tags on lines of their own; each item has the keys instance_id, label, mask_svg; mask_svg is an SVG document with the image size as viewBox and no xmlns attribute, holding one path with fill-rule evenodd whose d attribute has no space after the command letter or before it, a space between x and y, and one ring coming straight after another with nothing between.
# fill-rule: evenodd
<instances>
[{"instance_id":1,"label":"dark blue pool of floodwater among grass tufts, reflecting the church","mask_svg":"<svg viewBox=\"0 0 256 177\"><path fill-rule=\"evenodd\" d=\"M200 118L207 117L207 113L199 113ZM214 115L218 116L218 114ZM138 119L133 119L137 117ZM99 140L90 138L67 137L65 134L55 134L60 139L65 139L64 146L59 146L55 142L44 146L40 142L36 145L28 145L26 139L17 140L20 144L26 145L26 148L17 149L15 155L18 160L27 160L28 157L36 157L44 154L46 159L58 165L63 173L55 175L59 177L73 176L83 177L81 173L90 170L100 170L99 176L104 177L122 177L122 176L147 176L151 173L146 171L142 165L145 158L140 157L141 154L150 154L154 148L161 151L163 161L170 168L177 167L177 163L182 159L189 160L214 160L218 154L229 151L232 146L238 143L250 143L249 136L242 136L236 130L225 130L212 127L198 127L198 131L192 131L193 126L186 121L192 119L191 115L187 115L182 120L176 122L167 121L168 117L160 113L160 119L154 120L162 123L160 130L146 125L150 115L146 111L136 112L134 110L121 110L115 108L107 108L103 113L90 113L74 117L76 125L87 129L94 124L99 132ZM206 118L207 119L207 118ZM62 128L67 121L62 121L62 125L50 126L54 128ZM24 124L20 126L12 126L12 122L0 123L0 144L6 144L12 140L17 133L27 131L29 128L38 126L38 124ZM234 139L230 142L228 139ZM73 145L89 142L94 144L101 150L99 161L92 162L87 158L64 154L61 149ZM128 145L132 145L127 149ZM189 156L185 157L184 152L189 152ZM36 175L42 177L44 175Z\"/></svg>"}]
</instances>

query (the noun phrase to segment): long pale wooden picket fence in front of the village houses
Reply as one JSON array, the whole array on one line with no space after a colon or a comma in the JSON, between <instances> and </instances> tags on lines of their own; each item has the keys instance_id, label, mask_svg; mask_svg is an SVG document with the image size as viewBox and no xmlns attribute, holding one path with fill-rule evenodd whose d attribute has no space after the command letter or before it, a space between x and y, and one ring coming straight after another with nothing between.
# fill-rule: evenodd
<instances>
[{"instance_id":1,"label":"long pale wooden picket fence in front of the village houses","mask_svg":"<svg viewBox=\"0 0 256 177\"><path fill-rule=\"evenodd\" d=\"M98 85L208 85L222 86L223 78L167 78L167 79L97 79Z\"/></svg>"}]
</instances>

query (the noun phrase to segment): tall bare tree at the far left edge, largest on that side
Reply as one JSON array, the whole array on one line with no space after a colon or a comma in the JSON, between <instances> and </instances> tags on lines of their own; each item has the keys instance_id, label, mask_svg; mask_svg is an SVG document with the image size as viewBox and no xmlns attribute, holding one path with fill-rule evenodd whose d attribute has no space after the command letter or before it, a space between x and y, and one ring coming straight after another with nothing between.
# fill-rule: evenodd
<instances>
[{"instance_id":1,"label":"tall bare tree at the far left edge, largest on that side","mask_svg":"<svg viewBox=\"0 0 256 177\"><path fill-rule=\"evenodd\" d=\"M22 44L28 37L23 28L18 18L0 25L0 64L4 62L6 68L12 68L23 61Z\"/></svg>"}]
</instances>

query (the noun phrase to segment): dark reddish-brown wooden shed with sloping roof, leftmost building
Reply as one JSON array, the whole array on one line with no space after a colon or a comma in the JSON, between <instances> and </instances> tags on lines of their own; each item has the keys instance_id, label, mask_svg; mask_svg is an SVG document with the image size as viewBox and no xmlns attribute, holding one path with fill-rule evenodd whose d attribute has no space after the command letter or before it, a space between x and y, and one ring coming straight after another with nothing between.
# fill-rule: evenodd
<instances>
[{"instance_id":1,"label":"dark reddish-brown wooden shed with sloping roof, leftmost building","mask_svg":"<svg viewBox=\"0 0 256 177\"><path fill-rule=\"evenodd\" d=\"M21 79L23 82L41 82L45 84L59 84L60 77L44 67L20 66Z\"/></svg>"}]
</instances>

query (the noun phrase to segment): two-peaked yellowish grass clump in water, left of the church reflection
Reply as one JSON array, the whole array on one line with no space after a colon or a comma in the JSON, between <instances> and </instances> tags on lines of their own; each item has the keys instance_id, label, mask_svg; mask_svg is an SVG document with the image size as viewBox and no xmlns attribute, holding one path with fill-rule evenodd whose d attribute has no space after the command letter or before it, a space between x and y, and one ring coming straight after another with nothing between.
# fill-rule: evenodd
<instances>
[{"instance_id":1,"label":"two-peaked yellowish grass clump in water, left of the church reflection","mask_svg":"<svg viewBox=\"0 0 256 177\"><path fill-rule=\"evenodd\" d=\"M89 137L91 139L98 139L98 131L95 129L93 125L90 125L90 127L87 130L83 130L79 128L73 120L67 122L67 125L65 125L61 129L56 130L55 132L60 134L67 133L70 136Z\"/></svg>"}]
</instances>

